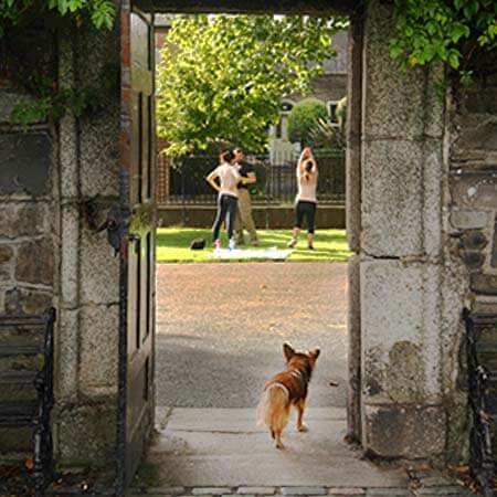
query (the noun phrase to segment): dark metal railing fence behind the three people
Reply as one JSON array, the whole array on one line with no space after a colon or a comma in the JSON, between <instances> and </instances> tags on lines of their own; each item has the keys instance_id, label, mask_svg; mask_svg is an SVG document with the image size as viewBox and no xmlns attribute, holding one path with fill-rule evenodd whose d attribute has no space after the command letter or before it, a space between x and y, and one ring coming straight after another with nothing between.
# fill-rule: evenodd
<instances>
[{"instance_id":1,"label":"dark metal railing fence behind the three people","mask_svg":"<svg viewBox=\"0 0 497 497\"><path fill-rule=\"evenodd\" d=\"M317 150L319 169L317 198L320 203L345 202L345 150ZM195 156L173 162L169 172L167 204L203 204L215 202L215 192L205 177L218 166L218 157ZM297 192L296 162L271 163L267 156L254 163L257 182L251 188L254 203L292 203Z\"/></svg>"}]
</instances>

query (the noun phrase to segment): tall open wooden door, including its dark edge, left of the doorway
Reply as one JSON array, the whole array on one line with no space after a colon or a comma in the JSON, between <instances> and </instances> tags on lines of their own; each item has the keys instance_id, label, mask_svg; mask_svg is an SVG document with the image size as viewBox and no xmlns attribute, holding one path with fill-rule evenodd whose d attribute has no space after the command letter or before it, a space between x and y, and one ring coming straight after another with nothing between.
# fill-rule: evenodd
<instances>
[{"instance_id":1,"label":"tall open wooden door, including its dark edge, left of the doorway","mask_svg":"<svg viewBox=\"0 0 497 497\"><path fill-rule=\"evenodd\" d=\"M154 427L154 15L120 2L120 308L116 493L124 495Z\"/></svg>"}]
</instances>

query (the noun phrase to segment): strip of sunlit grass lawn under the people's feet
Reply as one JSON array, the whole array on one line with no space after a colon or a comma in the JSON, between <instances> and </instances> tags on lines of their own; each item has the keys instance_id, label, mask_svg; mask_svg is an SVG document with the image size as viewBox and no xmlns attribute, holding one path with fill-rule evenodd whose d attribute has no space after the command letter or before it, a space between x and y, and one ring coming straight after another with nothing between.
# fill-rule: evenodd
<instances>
[{"instance_id":1,"label":"strip of sunlit grass lawn under the people's feet","mask_svg":"<svg viewBox=\"0 0 497 497\"><path fill-rule=\"evenodd\" d=\"M290 239L290 230L257 230L257 234L260 239L260 248L267 248L271 246L286 248L286 242ZM190 242L193 239L199 237L205 239L205 248L203 251L190 250ZM317 230L314 251L307 248L306 239L307 234L305 232L300 233L296 250L286 261L345 262L351 255L347 245L345 230ZM208 254L212 252L211 240L211 230L194 228L159 228L157 230L157 262L219 262L219 258L208 257ZM225 232L222 232L221 241L222 246L226 247L228 242Z\"/></svg>"}]
</instances>

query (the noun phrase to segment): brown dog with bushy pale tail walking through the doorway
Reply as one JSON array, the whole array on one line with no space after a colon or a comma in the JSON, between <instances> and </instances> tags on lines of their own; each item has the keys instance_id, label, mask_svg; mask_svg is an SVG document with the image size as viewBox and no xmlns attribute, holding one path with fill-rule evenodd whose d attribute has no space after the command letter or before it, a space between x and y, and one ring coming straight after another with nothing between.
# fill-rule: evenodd
<instances>
[{"instance_id":1,"label":"brown dog with bushy pale tail walking through the doorway","mask_svg":"<svg viewBox=\"0 0 497 497\"><path fill-rule=\"evenodd\" d=\"M283 346L286 371L273 377L265 385L257 406L257 424L266 424L276 448L284 448L282 433L288 424L292 405L297 409L297 430L307 431L304 410L310 376L313 374L319 349L311 352L296 352L288 343Z\"/></svg>"}]
</instances>

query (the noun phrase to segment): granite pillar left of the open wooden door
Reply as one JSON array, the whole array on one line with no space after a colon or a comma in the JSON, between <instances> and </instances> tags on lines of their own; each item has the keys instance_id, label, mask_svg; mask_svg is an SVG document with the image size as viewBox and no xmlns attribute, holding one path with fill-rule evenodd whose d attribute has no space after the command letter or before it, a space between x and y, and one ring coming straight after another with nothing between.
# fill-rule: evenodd
<instances>
[{"instance_id":1,"label":"granite pillar left of the open wooden door","mask_svg":"<svg viewBox=\"0 0 497 497\"><path fill-rule=\"evenodd\" d=\"M118 23L117 23L118 24ZM60 125L61 295L55 426L62 464L114 464L119 257L102 224L119 191L119 27L60 40L60 84L92 88L94 108Z\"/></svg>"}]
</instances>

